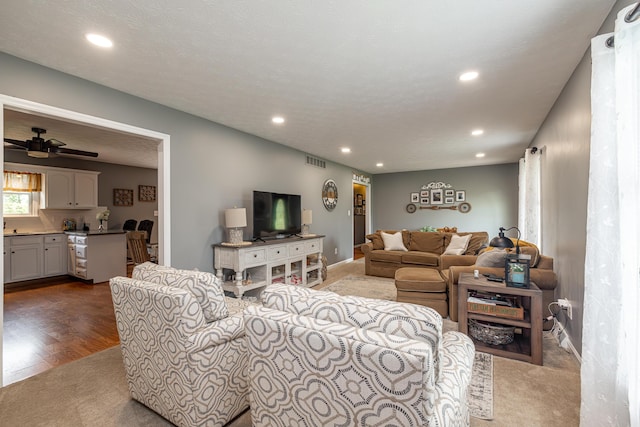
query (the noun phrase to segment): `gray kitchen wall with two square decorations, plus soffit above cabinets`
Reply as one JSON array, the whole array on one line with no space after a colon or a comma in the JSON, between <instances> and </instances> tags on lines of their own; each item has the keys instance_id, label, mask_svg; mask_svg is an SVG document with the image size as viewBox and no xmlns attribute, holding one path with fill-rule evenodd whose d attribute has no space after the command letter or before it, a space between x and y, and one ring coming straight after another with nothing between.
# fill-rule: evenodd
<instances>
[{"instance_id":1,"label":"gray kitchen wall with two square decorations, plus soffit above cabinets","mask_svg":"<svg viewBox=\"0 0 640 427\"><path fill-rule=\"evenodd\" d=\"M155 153L153 153L155 155ZM109 228L120 229L125 220L132 218L140 222L150 219L154 222L151 231L151 242L158 241L158 218L154 211L158 209L158 201L138 201L138 185L153 185L158 187L158 171L155 169L137 168L110 163L92 162L75 158L36 159L24 152L4 150L4 161L12 163L27 163L40 166L54 166L61 168L98 171L98 206L106 206L111 211ZM133 206L113 206L113 189L127 188L133 190ZM79 213L81 216L81 213ZM13 222L19 221L13 219ZM8 222L7 222L8 224ZM82 224L78 224L79 227ZM11 227L10 227L11 228Z\"/></svg>"}]
</instances>

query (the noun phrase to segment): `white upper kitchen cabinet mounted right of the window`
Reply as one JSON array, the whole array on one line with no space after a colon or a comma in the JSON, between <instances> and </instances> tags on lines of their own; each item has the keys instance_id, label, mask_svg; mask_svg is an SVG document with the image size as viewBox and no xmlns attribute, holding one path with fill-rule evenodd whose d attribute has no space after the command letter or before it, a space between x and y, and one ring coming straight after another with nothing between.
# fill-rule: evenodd
<instances>
[{"instance_id":1,"label":"white upper kitchen cabinet mounted right of the window","mask_svg":"<svg viewBox=\"0 0 640 427\"><path fill-rule=\"evenodd\" d=\"M45 172L47 209L91 209L98 206L98 172L49 169Z\"/></svg>"}]
</instances>

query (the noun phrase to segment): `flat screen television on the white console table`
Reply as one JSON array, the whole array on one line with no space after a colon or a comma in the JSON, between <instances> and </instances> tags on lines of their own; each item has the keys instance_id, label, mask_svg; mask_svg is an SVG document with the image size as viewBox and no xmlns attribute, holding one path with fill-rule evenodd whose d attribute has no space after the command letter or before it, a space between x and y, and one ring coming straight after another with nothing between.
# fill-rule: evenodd
<instances>
[{"instance_id":1,"label":"flat screen television on the white console table","mask_svg":"<svg viewBox=\"0 0 640 427\"><path fill-rule=\"evenodd\" d=\"M300 195L253 192L253 238L275 239L302 231Z\"/></svg>"}]
</instances>

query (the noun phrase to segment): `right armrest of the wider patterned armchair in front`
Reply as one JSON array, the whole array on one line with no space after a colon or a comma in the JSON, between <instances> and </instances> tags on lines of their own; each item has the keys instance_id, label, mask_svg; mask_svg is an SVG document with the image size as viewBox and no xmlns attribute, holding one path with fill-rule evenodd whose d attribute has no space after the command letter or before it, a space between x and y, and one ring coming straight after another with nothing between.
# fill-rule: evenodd
<instances>
[{"instance_id":1,"label":"right armrest of the wider patterned armchair in front","mask_svg":"<svg viewBox=\"0 0 640 427\"><path fill-rule=\"evenodd\" d=\"M475 348L461 332L447 332L442 338L440 378L436 381L434 418L439 426L469 425L467 390Z\"/></svg>"}]
</instances>

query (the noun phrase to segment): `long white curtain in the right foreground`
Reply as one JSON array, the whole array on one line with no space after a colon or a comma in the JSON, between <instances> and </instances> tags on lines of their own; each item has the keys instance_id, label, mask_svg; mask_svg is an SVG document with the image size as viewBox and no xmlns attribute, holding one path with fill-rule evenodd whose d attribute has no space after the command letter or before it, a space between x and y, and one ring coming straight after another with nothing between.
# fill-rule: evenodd
<instances>
[{"instance_id":1,"label":"long white curtain in the right foreground","mask_svg":"<svg viewBox=\"0 0 640 427\"><path fill-rule=\"evenodd\" d=\"M640 19L592 40L583 426L640 426Z\"/></svg>"}]
</instances>

